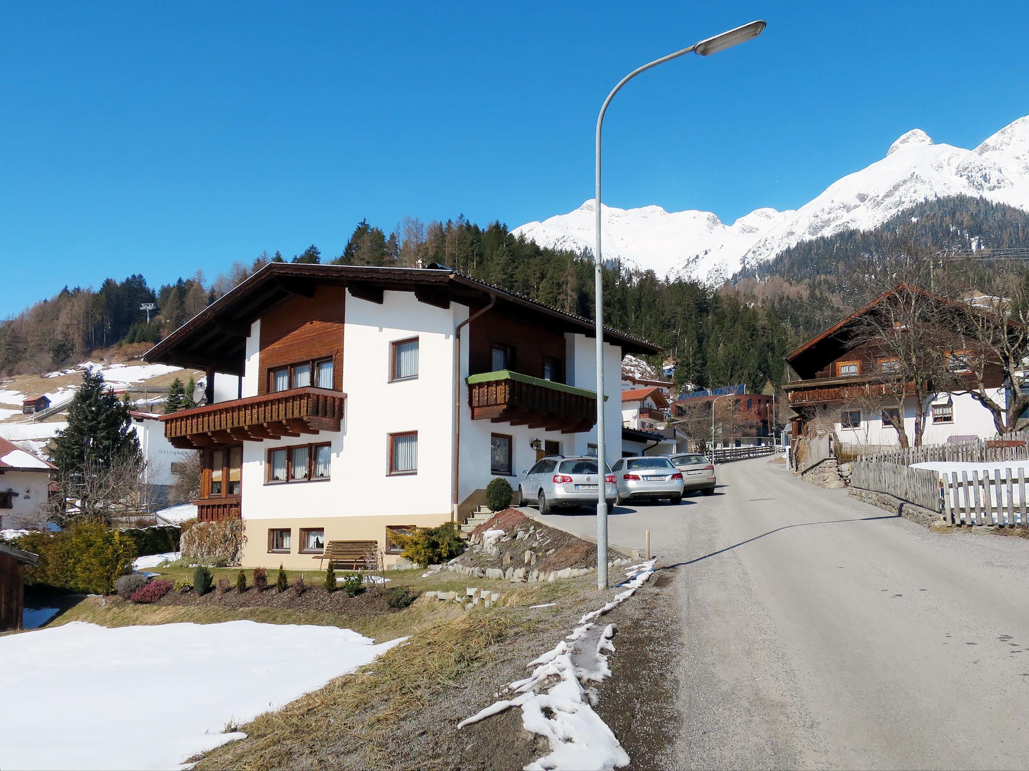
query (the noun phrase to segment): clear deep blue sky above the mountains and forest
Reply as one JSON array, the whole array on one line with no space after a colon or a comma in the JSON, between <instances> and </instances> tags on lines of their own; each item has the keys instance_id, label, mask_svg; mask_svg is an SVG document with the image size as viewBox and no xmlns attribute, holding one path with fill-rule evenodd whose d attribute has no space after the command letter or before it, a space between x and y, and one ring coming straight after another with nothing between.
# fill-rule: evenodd
<instances>
[{"instance_id":1,"label":"clear deep blue sky above the mountains and forest","mask_svg":"<svg viewBox=\"0 0 1029 771\"><path fill-rule=\"evenodd\" d=\"M593 194L732 221L795 208L913 127L1029 113L1025 3L4 3L0 318L65 284L338 254L362 217L511 227Z\"/></svg>"}]
</instances>

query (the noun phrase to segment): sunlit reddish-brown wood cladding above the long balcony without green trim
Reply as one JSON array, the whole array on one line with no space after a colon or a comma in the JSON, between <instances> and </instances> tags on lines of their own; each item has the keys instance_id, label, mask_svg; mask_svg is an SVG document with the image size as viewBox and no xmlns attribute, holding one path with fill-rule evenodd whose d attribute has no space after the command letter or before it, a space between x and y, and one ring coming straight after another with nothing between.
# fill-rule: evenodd
<instances>
[{"instance_id":1,"label":"sunlit reddish-brown wood cladding above the long balcony without green trim","mask_svg":"<svg viewBox=\"0 0 1029 771\"><path fill-rule=\"evenodd\" d=\"M347 290L318 285L314 297L293 295L260 319L257 393L269 392L269 370L332 357L332 388L343 391L343 330Z\"/></svg>"}]
</instances>

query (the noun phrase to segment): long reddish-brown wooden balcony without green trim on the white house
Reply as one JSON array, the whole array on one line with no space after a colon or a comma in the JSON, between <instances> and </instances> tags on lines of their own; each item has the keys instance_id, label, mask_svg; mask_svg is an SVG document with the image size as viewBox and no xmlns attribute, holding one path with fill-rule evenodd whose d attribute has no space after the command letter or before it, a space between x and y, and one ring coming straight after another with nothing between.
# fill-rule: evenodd
<instances>
[{"instance_id":1,"label":"long reddish-brown wooden balcony without green trim on the white house","mask_svg":"<svg viewBox=\"0 0 1029 771\"><path fill-rule=\"evenodd\" d=\"M346 399L346 394L328 389L290 389L184 409L161 420L176 447L223 447L339 431Z\"/></svg>"}]
</instances>

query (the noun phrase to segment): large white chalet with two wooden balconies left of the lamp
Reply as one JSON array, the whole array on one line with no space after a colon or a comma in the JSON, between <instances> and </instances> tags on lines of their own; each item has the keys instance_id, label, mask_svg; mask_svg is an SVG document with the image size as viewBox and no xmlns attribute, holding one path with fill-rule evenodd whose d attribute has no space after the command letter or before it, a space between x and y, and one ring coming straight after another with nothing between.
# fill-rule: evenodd
<instances>
[{"instance_id":1,"label":"large white chalet with two wooden balconies left of the lamp","mask_svg":"<svg viewBox=\"0 0 1029 771\"><path fill-rule=\"evenodd\" d=\"M245 566L310 568L335 541L395 562L387 527L461 521L494 477L595 454L593 331L443 266L272 263L146 359L207 371L211 403L161 418L203 452L199 518L242 518ZM604 342L613 462L623 355L660 350Z\"/></svg>"}]
</instances>

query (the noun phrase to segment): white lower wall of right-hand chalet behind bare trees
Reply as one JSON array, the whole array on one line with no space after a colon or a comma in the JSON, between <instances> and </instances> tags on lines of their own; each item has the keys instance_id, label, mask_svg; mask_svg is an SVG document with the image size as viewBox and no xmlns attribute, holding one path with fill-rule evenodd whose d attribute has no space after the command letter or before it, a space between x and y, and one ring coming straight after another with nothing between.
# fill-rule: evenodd
<instances>
[{"instance_id":1,"label":"white lower wall of right-hand chalet behind bare trees","mask_svg":"<svg viewBox=\"0 0 1029 771\"><path fill-rule=\"evenodd\" d=\"M994 389L988 392L996 402L1004 403L1004 390ZM954 423L932 423L932 405L947 401L947 394L936 394L927 402L925 408L925 435L923 444L944 444L949 437L974 436L990 438L996 435L997 428L993 425L993 415L970 395L961 394L952 397L954 401ZM844 409L861 410L861 425L857 429L845 429L840 423L839 414ZM832 407L829 407L832 409ZM897 444L897 433L888 423L883 423L880 408L870 409L863 405L853 405L836 408L837 423L835 425L840 441L853 444ZM904 402L904 432L908 441L915 440L915 414L917 412L914 398Z\"/></svg>"}]
</instances>

